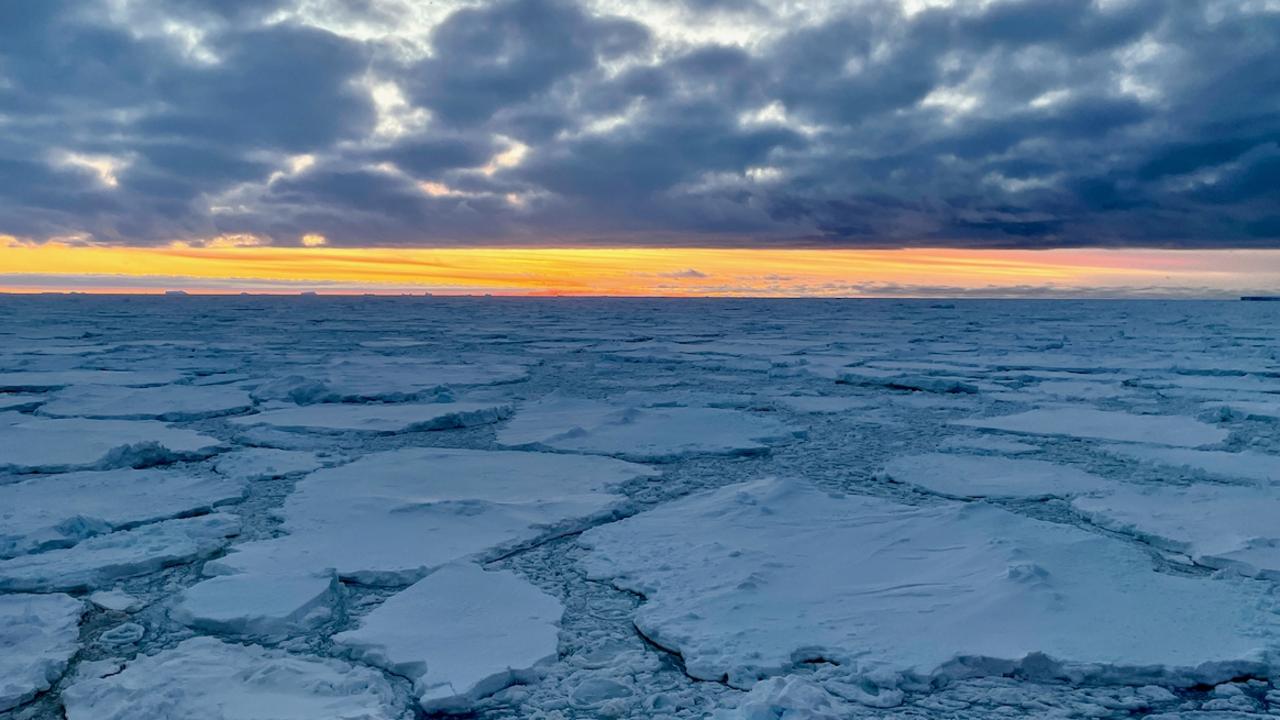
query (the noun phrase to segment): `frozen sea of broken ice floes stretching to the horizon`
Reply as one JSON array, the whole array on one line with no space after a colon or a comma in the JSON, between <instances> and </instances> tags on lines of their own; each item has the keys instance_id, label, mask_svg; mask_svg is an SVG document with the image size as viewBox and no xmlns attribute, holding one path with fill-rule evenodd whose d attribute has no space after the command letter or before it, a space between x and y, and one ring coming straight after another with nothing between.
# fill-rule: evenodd
<instances>
[{"instance_id":1,"label":"frozen sea of broken ice floes stretching to the horizon","mask_svg":"<svg viewBox=\"0 0 1280 720\"><path fill-rule=\"evenodd\" d=\"M0 719L1280 716L1280 307L0 297Z\"/></svg>"}]
</instances>

